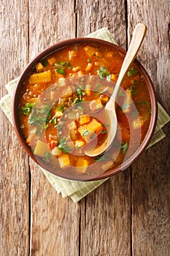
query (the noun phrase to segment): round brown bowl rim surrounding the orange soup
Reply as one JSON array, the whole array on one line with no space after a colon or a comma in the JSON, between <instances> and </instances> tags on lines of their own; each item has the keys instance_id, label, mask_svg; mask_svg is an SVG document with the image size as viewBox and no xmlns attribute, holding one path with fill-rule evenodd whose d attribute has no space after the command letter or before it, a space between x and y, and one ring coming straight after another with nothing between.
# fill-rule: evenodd
<instances>
[{"instance_id":1,"label":"round brown bowl rim surrounding the orange soup","mask_svg":"<svg viewBox=\"0 0 170 256\"><path fill-rule=\"evenodd\" d=\"M150 126L149 129L147 130L147 134L142 142L142 144L139 146L139 148L136 150L136 152L125 162L123 162L122 165L119 165L115 167L114 169L108 170L105 173L99 174L98 176L74 176L70 175L69 173L62 173L61 171L56 171L53 170L50 166L46 165L44 161L39 159L37 161L36 157L34 156L33 152L31 151L31 147L28 146L26 143L26 140L23 137L23 133L20 129L20 124L18 120L18 95L20 94L20 89L23 86L24 80L28 77L28 74L30 73L31 69L38 63L40 60L44 59L45 56L50 55L50 53L55 52L55 50L75 45L75 44L88 44L88 43L95 43L96 45L101 45L105 47L112 48L113 50L118 50L120 53L125 54L126 51L123 48L120 48L117 45L112 44L111 42L107 42L101 39L92 39L92 38L77 38L77 39L67 39L63 42L58 42L55 45L50 46L49 48L45 49L42 51L42 53L39 53L24 69L22 75L20 76L20 79L18 81L18 85L15 89L15 94L12 99L12 119L13 119L13 124L15 127L15 132L18 136L18 139L20 140L21 145L27 152L27 154L34 159L34 162L38 163L41 167L44 167L47 171L50 173L55 174L56 176L61 176L62 178L67 178L71 180L80 180L80 181L92 181L92 180L98 180L101 178L108 178L110 176L115 175L115 173L119 173L122 170L125 170L129 165L131 165L132 162L134 162L138 157L142 154L142 152L147 148L148 144L150 143L150 140L152 138L153 132L155 130L156 126L156 121L157 121L157 113L158 113L158 106L157 106L157 100L155 97L155 90L152 84L152 80L150 79L150 76L147 74L146 70L142 66L142 64L139 63L135 59L134 63L137 65L138 69L140 72L142 72L142 75L144 75L145 81L147 83L147 89L150 93L150 99L151 99L151 107L152 107L152 114L151 114L151 119L150 119Z\"/></svg>"}]
</instances>

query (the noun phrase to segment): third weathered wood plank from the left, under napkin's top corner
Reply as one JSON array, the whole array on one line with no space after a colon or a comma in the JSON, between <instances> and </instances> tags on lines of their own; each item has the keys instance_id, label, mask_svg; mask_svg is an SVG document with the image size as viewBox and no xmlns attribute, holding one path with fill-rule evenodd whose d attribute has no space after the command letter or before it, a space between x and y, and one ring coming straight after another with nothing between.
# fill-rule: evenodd
<instances>
[{"instance_id":1,"label":"third weathered wood plank from the left, under napkin's top corner","mask_svg":"<svg viewBox=\"0 0 170 256\"><path fill-rule=\"evenodd\" d=\"M124 1L78 1L77 36L108 26L125 48ZM131 172L109 179L81 202L81 255L131 255Z\"/></svg>"}]
</instances>

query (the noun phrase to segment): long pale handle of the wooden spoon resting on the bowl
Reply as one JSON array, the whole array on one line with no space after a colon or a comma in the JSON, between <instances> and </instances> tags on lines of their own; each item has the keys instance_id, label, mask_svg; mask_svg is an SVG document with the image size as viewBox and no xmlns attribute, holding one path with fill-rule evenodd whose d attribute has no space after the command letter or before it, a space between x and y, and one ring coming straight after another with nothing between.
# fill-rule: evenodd
<instances>
[{"instance_id":1,"label":"long pale handle of the wooden spoon resting on the bowl","mask_svg":"<svg viewBox=\"0 0 170 256\"><path fill-rule=\"evenodd\" d=\"M123 83L123 78L125 77L125 74L128 71L128 68L130 67L131 63L134 61L136 57L136 54L138 53L138 50L142 44L146 31L147 31L147 27L142 23L138 23L134 29L133 36L131 39L131 44L129 45L128 51L125 55L125 59L121 67L115 89L113 91L112 96L110 97L110 101L112 102L115 102L115 99L117 97L117 92L119 91L120 86Z\"/></svg>"}]
</instances>

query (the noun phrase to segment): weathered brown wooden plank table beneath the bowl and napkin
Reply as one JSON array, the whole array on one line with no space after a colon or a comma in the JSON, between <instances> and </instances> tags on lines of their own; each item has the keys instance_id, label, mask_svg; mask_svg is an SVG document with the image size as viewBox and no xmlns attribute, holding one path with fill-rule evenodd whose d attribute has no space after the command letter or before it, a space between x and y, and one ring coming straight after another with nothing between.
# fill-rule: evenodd
<instances>
[{"instance_id":1,"label":"weathered brown wooden plank table beneath the bowl and napkin","mask_svg":"<svg viewBox=\"0 0 170 256\"><path fill-rule=\"evenodd\" d=\"M169 111L169 0L1 0L0 96L28 61L55 42L108 27L127 48L138 22L147 37L137 59ZM23 151L1 111L3 256L170 255L169 124L166 138L80 203L55 192Z\"/></svg>"}]
</instances>

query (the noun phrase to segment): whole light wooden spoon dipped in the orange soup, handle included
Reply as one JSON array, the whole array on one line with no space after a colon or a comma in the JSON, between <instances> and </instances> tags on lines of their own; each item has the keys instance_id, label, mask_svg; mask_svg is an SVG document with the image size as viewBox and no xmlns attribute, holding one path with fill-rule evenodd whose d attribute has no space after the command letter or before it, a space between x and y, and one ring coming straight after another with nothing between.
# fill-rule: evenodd
<instances>
[{"instance_id":1,"label":"whole light wooden spoon dipped in the orange soup, handle included","mask_svg":"<svg viewBox=\"0 0 170 256\"><path fill-rule=\"evenodd\" d=\"M138 53L138 50L142 45L142 41L144 39L144 35L146 34L146 30L147 30L146 26L144 26L144 24L142 23L137 24L134 29L133 37L131 39L131 44L129 45L128 51L123 61L123 65L120 69L120 74L117 79L115 89L112 93L112 96L109 99L109 102L107 102L107 105L104 108L104 111L106 111L106 115L108 116L108 120L110 124L107 140L105 140L105 142L101 146L97 146L96 148L92 148L92 149L90 148L86 149L85 154L89 157L96 157L99 154L104 153L104 151L106 151L107 148L111 146L112 141L115 138L115 135L117 132L117 116L115 112L115 102L116 102L117 93L120 89L120 86L123 83L123 79L125 77L126 72L128 71L131 63L134 61L136 54Z\"/></svg>"}]
</instances>

